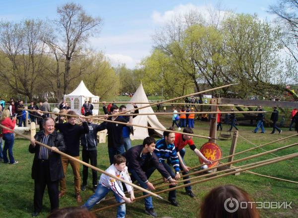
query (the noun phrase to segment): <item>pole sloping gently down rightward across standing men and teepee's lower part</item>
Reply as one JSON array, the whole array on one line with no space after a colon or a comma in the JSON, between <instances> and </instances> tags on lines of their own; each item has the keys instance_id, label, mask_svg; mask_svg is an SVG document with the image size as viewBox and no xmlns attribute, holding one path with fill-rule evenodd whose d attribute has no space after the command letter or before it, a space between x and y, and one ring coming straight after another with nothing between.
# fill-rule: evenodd
<instances>
[{"instance_id":1,"label":"pole sloping gently down rightward across standing men and teepee's lower part","mask_svg":"<svg viewBox=\"0 0 298 218\"><path fill-rule=\"evenodd\" d=\"M19 110L26 110L26 111L33 111L36 112L36 110L29 110L29 109L19 109ZM55 114L55 115L61 115L59 113L54 113L54 112L46 112L46 111L40 111L41 113L48 113L48 114ZM97 121L102 121L102 122L108 122L108 123L116 123L116 124L122 124L122 125L128 125L128 126L135 126L135 127L142 127L142 128L147 128L151 130L160 130L160 131L165 131L165 129L160 129L160 128L153 128L153 127L147 127L147 126L142 126L142 125L137 125L137 124L129 124L129 123L123 123L123 122L118 122L118 121L112 121L112 120L104 120L104 119L99 119L99 118L91 118L91 117L85 117L85 116L79 116L79 115L68 115L64 114L65 116L70 116L70 117L81 117L84 119L92 119L92 120L97 120ZM118 114L119 115L119 114ZM131 114L133 116L133 114ZM182 135L187 135L187 136L193 136L193 137L198 137L198 138L203 138L203 139L211 139L208 136L200 136L200 135L195 135L195 134L189 134L189 133L183 133L183 132L178 132L178 131L172 131L172 130L167 130L167 132L171 133L180 133Z\"/></svg>"}]
</instances>

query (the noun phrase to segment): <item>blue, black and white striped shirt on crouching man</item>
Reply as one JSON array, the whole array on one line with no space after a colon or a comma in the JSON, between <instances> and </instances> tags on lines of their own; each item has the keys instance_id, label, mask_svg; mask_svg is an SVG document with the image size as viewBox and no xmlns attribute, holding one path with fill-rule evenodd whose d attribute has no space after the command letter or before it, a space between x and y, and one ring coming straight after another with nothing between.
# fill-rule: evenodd
<instances>
[{"instance_id":1,"label":"blue, black and white striped shirt on crouching man","mask_svg":"<svg viewBox=\"0 0 298 218\"><path fill-rule=\"evenodd\" d=\"M165 140L158 140L155 144L154 153L159 159L160 163L163 163L166 159L170 161L176 172L179 172L179 159L174 144L166 145Z\"/></svg>"}]
</instances>

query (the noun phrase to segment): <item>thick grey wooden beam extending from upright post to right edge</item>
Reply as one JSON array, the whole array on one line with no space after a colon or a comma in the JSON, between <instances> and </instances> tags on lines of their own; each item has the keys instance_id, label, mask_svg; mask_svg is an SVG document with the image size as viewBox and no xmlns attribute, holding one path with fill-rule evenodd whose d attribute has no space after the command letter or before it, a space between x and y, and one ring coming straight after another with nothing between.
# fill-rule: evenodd
<instances>
[{"instance_id":1,"label":"thick grey wooden beam extending from upright post to right edge","mask_svg":"<svg viewBox=\"0 0 298 218\"><path fill-rule=\"evenodd\" d=\"M282 108L298 108L298 102L291 101L268 101L268 100L249 100L234 98L218 98L218 104L235 104L247 106L266 106L266 107L282 107Z\"/></svg>"}]
</instances>

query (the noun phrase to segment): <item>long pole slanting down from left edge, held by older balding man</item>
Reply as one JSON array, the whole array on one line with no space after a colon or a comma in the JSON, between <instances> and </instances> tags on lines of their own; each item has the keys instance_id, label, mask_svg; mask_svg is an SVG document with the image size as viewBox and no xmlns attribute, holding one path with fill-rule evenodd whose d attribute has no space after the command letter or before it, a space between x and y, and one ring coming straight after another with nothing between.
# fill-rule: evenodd
<instances>
[{"instance_id":1,"label":"long pole slanting down from left edge, held by older balding man","mask_svg":"<svg viewBox=\"0 0 298 218\"><path fill-rule=\"evenodd\" d=\"M30 138L29 136L25 136L25 135L23 135L23 134L21 134L21 133L17 133L17 132L15 132L14 130L11 130L11 129L9 129L9 128L7 128L7 127L1 125L1 124L0 124L0 127L3 128L3 129L6 129L6 130L12 131L12 132L15 133L16 135L19 135L19 136L21 136L21 137L23 137L23 138L25 138L25 139L27 139L27 140L29 140L29 141L31 140L31 138ZM44 147L46 147L46 148L48 148L48 149L51 150L51 147L48 146L48 145L45 145L45 144L40 143L40 142L38 142L38 141L36 141L35 143L38 144L38 145L44 146ZM76 158L74 158L73 156L68 155L68 154L66 154L66 153L64 153L64 152L62 152L62 151L60 151L60 150L58 150L58 151L53 151L53 152L59 153L60 155L63 155L63 156L65 156L65 157L69 158L69 159L72 159L72 160L74 160L74 161L76 161L76 162L79 162L79 163L81 163L81 164L83 164L83 165L85 165L85 166L87 166L87 167L90 167L90 168L93 169L93 170L96 170L96 171L98 171L98 172L100 172L100 173L103 173L103 174L105 174L105 175L107 175L107 176L110 176L110 177L112 177L112 178L114 178L114 179L116 179L116 180L119 180L119 181L121 181L121 182L124 182L124 183L130 185L130 186L133 186L133 187L135 187L135 188L137 188L137 189L139 189L139 190L142 190L143 192L146 192L146 193L148 193L149 195L153 195L153 196L155 196L155 197L157 197L157 198L162 199L159 195L154 194L153 192L150 192L150 191L147 190L147 189L144 189L144 188L142 188L142 187L140 187L140 186L137 186L137 185L135 185L135 184L133 184L133 183L131 183L131 182L128 182L128 181L126 181L126 180L124 180L124 179L118 178L117 176L115 176L115 175L113 175L113 174L111 174L111 173L108 173L108 172L106 172L106 171L104 171L104 170L102 170L102 169L99 169L99 168L97 168L97 167L95 167L95 166L92 166L92 165L90 165L90 164L88 164L88 163L85 163L85 162L83 162L83 161L81 161L81 160L79 160L79 159L76 159Z\"/></svg>"}]
</instances>

